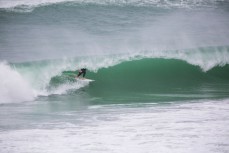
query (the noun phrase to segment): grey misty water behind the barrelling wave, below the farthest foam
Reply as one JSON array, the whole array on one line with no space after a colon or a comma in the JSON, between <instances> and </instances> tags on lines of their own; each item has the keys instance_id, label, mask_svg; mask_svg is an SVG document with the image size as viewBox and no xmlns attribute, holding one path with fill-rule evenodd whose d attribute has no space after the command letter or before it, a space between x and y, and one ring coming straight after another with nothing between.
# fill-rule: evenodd
<instances>
[{"instance_id":1,"label":"grey misty water behind the barrelling wave, below the farthest foam","mask_svg":"<svg viewBox=\"0 0 229 153\"><path fill-rule=\"evenodd\" d=\"M149 6L132 1L122 5L30 3L1 6L1 59L18 62L142 51L161 53L229 43L228 12L217 6L218 1L200 1L197 8L193 7L197 2L195 5L191 1L155 1ZM33 10L8 10L21 5Z\"/></svg>"}]
</instances>

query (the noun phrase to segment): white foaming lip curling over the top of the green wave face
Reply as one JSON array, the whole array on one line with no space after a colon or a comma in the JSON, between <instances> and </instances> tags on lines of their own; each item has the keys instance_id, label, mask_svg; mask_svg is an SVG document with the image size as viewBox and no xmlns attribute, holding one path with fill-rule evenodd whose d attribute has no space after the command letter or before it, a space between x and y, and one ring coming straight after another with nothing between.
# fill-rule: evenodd
<instances>
[{"instance_id":1,"label":"white foaming lip curling over the top of the green wave face","mask_svg":"<svg viewBox=\"0 0 229 153\"><path fill-rule=\"evenodd\" d=\"M109 55L109 56L92 56L78 60L75 68L86 67L90 71L97 72L101 68L109 68L111 66L120 64L125 61L133 61L144 58L164 58L164 59L178 59L186 61L191 65L200 67L204 72L211 70L216 66L225 66L229 64L229 50L227 47L212 47L200 49L187 50L161 50L155 51L140 51L131 52L127 54Z\"/></svg>"}]
</instances>

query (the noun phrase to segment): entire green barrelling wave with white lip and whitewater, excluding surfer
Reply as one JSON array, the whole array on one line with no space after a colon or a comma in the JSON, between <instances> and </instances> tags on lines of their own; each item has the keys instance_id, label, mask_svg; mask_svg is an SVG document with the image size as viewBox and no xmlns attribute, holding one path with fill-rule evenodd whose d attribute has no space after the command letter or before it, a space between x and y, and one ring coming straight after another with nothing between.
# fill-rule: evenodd
<instances>
[{"instance_id":1,"label":"entire green barrelling wave with white lip and whitewater, excluding surfer","mask_svg":"<svg viewBox=\"0 0 229 153\"><path fill-rule=\"evenodd\" d=\"M12 88L12 84L21 84L23 89L28 90L28 86L30 89L23 93L24 99L19 96L20 101L27 101L28 97L82 93L94 97L95 103L224 98L228 95L229 65L223 56L228 51L222 53L212 52L210 56L209 52L196 50L182 56L174 51L170 56L165 54L167 57L141 53L2 63L2 71L9 69L2 80L7 82L4 86L11 94L1 97L3 103L6 99L15 101L12 96L21 93L21 89ZM206 58L197 60L196 56L203 55ZM86 77L95 82L75 80L82 67L88 69ZM14 73L23 80L10 81L9 76Z\"/></svg>"}]
</instances>

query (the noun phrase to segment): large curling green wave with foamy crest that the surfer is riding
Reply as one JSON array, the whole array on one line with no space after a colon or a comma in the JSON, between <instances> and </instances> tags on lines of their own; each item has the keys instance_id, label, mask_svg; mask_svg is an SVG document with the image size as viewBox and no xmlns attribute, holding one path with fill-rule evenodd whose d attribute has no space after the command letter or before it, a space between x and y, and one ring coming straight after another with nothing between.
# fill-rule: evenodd
<instances>
[{"instance_id":1,"label":"large curling green wave with foamy crest that the surfer is riding","mask_svg":"<svg viewBox=\"0 0 229 153\"><path fill-rule=\"evenodd\" d=\"M227 47L216 48L84 56L11 64L3 62L0 65L0 103L32 101L38 96L68 94L69 91L83 87L96 97L101 93L150 94L173 89L198 89L203 85L206 88L209 84L227 85L229 52ZM93 86L88 87L89 83L75 81L77 69L82 67L88 69L88 78L96 80ZM19 88L15 88L15 85ZM213 89L218 90L218 86L215 87Z\"/></svg>"}]
</instances>

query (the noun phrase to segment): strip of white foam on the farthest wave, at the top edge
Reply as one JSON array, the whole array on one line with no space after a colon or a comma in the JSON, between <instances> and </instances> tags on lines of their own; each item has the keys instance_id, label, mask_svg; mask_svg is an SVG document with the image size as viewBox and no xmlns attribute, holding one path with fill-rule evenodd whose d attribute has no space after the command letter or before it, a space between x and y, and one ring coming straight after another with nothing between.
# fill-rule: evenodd
<instances>
[{"instance_id":1,"label":"strip of white foam on the farthest wave, at the top edge","mask_svg":"<svg viewBox=\"0 0 229 153\"><path fill-rule=\"evenodd\" d=\"M14 8L14 7L38 7L42 5L50 5L61 2L75 2L75 3L95 3L102 5L137 5L137 6L159 6L159 7L176 7L176 8L191 8L195 6L204 6L215 4L219 0L1 0L0 8ZM221 0L224 1L224 0Z\"/></svg>"}]
</instances>

